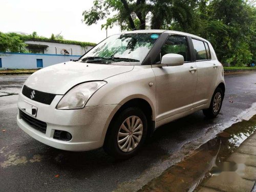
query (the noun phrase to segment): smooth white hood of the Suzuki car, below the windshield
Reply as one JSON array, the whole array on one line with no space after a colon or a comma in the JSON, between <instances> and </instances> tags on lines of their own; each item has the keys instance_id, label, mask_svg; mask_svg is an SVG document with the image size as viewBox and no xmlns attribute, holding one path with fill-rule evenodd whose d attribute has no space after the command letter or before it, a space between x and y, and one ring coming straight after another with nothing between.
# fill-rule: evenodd
<instances>
[{"instance_id":1,"label":"smooth white hood of the Suzuki car, below the windshield","mask_svg":"<svg viewBox=\"0 0 256 192\"><path fill-rule=\"evenodd\" d=\"M104 80L132 71L134 66L74 62L59 63L33 73L25 82L31 89L63 95L81 82Z\"/></svg>"}]
</instances>

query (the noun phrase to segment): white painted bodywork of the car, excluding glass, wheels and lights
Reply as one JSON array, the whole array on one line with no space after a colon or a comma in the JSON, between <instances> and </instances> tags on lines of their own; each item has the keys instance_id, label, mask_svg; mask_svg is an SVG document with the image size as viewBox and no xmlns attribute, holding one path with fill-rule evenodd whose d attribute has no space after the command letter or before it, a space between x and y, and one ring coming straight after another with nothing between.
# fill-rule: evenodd
<instances>
[{"instance_id":1,"label":"white painted bodywork of the car, excluding glass, wheels and lights","mask_svg":"<svg viewBox=\"0 0 256 192\"><path fill-rule=\"evenodd\" d=\"M17 124L38 141L67 151L88 151L103 145L114 115L132 99L143 99L152 109L154 129L209 108L212 94L220 83L225 84L223 67L210 43L198 36L165 30L143 30L125 33L169 33L187 35L208 43L211 60L185 62L181 66L103 65L69 61L50 66L32 74L25 85L31 89L56 94L50 105L34 101L22 93L18 97L19 110L24 102L35 106L37 120L47 123L43 134L20 117ZM215 64L215 66L214 66ZM197 69L189 71L191 68ZM107 83L97 90L86 106L79 110L57 110L56 106L71 88L87 81ZM55 130L67 131L70 141L53 138Z\"/></svg>"}]
</instances>

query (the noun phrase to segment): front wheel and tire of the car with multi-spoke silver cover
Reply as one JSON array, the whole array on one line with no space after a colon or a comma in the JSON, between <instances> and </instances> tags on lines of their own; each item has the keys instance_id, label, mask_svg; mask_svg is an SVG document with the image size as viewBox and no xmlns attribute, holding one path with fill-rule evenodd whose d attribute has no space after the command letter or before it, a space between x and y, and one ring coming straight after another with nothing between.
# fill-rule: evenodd
<instances>
[{"instance_id":1,"label":"front wheel and tire of the car with multi-spoke silver cover","mask_svg":"<svg viewBox=\"0 0 256 192\"><path fill-rule=\"evenodd\" d=\"M138 123L136 123L137 121ZM130 125L131 125L130 130L127 122L130 122ZM136 126L132 126L132 125L136 125ZM126 130L124 129L123 126L126 127ZM141 126L142 126L142 130L141 130ZM134 127L134 130L135 130L133 134L131 132L132 127ZM127 131L129 131L129 133ZM142 135L140 135L141 133ZM141 146L145 142L146 135L147 135L147 119L145 114L139 108L130 107L130 108L124 109L121 113L117 115L117 117L115 117L112 120L109 130L105 137L103 149L107 154L109 154L110 156L116 159L128 159L134 156L140 150ZM126 137L127 139L125 139ZM136 137L138 140L136 139ZM119 141L119 144L118 144L118 141ZM129 144L130 144L130 147L129 147Z\"/></svg>"}]
</instances>

